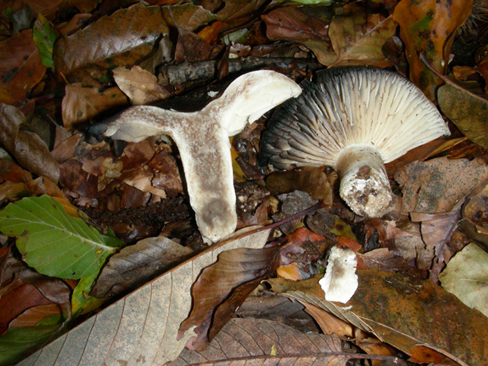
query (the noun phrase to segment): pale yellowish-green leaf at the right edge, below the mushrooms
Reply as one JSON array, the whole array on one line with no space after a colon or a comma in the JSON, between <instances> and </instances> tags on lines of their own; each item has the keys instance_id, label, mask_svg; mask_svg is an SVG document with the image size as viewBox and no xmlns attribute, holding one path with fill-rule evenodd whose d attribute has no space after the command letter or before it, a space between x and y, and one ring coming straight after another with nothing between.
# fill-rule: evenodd
<instances>
[{"instance_id":1,"label":"pale yellowish-green leaf at the right edge, below the mushrooms","mask_svg":"<svg viewBox=\"0 0 488 366\"><path fill-rule=\"evenodd\" d=\"M442 287L488 317L488 254L473 243L452 258L439 275Z\"/></svg>"}]
</instances>

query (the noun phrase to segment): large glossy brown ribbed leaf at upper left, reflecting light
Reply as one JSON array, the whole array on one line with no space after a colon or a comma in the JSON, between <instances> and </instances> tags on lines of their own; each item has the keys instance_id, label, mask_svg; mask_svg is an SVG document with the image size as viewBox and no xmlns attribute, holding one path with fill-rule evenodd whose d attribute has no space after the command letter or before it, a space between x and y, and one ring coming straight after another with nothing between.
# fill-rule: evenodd
<instances>
[{"instance_id":1,"label":"large glossy brown ribbed leaf at upper left, reflecting light","mask_svg":"<svg viewBox=\"0 0 488 366\"><path fill-rule=\"evenodd\" d=\"M168 32L159 6L137 3L60 38L54 45L56 72L66 75L91 64L108 68L133 65Z\"/></svg>"}]
</instances>

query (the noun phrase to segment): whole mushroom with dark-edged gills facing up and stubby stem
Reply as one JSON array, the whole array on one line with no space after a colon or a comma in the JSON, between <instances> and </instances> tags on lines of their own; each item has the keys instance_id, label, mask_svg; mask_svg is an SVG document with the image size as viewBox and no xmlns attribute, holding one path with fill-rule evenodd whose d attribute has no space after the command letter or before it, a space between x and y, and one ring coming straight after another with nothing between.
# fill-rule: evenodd
<instances>
[{"instance_id":1,"label":"whole mushroom with dark-edged gills facing up and stubby stem","mask_svg":"<svg viewBox=\"0 0 488 366\"><path fill-rule=\"evenodd\" d=\"M261 165L333 167L340 197L358 215L379 218L393 193L385 163L450 132L408 79L388 70L324 70L277 110L261 139Z\"/></svg>"}]
</instances>

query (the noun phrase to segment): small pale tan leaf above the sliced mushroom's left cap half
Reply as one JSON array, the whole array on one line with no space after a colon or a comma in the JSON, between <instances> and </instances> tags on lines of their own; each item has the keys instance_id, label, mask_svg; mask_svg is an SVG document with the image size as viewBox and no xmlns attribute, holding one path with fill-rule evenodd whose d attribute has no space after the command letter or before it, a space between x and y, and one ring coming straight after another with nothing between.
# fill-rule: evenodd
<instances>
[{"instance_id":1,"label":"small pale tan leaf above the sliced mushroom's left cap half","mask_svg":"<svg viewBox=\"0 0 488 366\"><path fill-rule=\"evenodd\" d=\"M171 93L158 84L158 77L139 66L115 68L112 70L117 86L130 99L132 105L146 105L171 96Z\"/></svg>"}]
</instances>

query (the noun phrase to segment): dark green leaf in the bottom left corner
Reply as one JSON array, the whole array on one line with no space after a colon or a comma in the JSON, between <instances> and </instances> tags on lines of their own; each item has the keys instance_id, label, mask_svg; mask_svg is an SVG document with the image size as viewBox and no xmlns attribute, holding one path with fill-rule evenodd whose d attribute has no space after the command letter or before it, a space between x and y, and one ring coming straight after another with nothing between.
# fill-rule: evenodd
<instances>
[{"instance_id":1,"label":"dark green leaf in the bottom left corner","mask_svg":"<svg viewBox=\"0 0 488 366\"><path fill-rule=\"evenodd\" d=\"M12 328L0 336L0 365L13 365L29 353L36 351L58 330L52 326L26 326Z\"/></svg>"}]
</instances>

